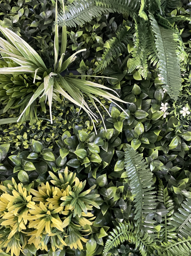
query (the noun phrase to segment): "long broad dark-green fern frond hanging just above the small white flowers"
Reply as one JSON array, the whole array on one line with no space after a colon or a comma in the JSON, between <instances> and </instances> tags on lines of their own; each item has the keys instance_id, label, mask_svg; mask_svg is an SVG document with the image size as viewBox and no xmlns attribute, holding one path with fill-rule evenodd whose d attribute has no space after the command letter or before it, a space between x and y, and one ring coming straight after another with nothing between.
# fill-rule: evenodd
<instances>
[{"instance_id":1,"label":"long broad dark-green fern frond hanging just above the small white flowers","mask_svg":"<svg viewBox=\"0 0 191 256\"><path fill-rule=\"evenodd\" d=\"M155 44L159 58L159 77L163 82L163 88L169 96L176 100L181 90L180 62L176 54L177 43L174 32L158 26L153 15L149 14L152 30L155 33Z\"/></svg>"}]
</instances>

